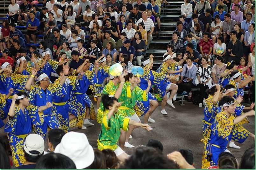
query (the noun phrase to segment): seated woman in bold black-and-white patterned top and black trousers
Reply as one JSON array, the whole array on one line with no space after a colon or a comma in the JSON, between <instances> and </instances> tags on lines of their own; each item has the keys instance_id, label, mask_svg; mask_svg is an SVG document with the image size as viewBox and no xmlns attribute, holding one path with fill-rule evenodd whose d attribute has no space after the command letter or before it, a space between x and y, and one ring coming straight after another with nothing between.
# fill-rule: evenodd
<instances>
[{"instance_id":1,"label":"seated woman in bold black-and-white patterned top and black trousers","mask_svg":"<svg viewBox=\"0 0 256 170\"><path fill-rule=\"evenodd\" d=\"M201 60L201 65L197 67L196 72L196 81L195 84L200 88L200 103L199 108L203 107L206 99L206 90L211 85L212 75L211 75L211 66L208 65L208 58L205 56ZM206 96L206 97L205 97Z\"/></svg>"}]
</instances>

